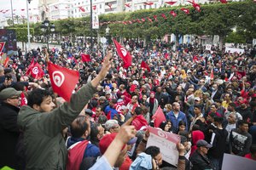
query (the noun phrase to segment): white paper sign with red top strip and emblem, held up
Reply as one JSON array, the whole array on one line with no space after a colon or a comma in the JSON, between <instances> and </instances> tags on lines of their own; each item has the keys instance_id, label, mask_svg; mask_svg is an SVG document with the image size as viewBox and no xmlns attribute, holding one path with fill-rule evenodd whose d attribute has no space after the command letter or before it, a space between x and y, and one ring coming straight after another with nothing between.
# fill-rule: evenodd
<instances>
[{"instance_id":1,"label":"white paper sign with red top strip and emblem, held up","mask_svg":"<svg viewBox=\"0 0 256 170\"><path fill-rule=\"evenodd\" d=\"M180 142L180 137L177 134L167 133L154 127L148 127L148 131L150 135L147 148L148 146L159 147L163 160L177 167L177 144Z\"/></svg>"}]
</instances>

